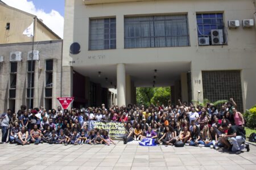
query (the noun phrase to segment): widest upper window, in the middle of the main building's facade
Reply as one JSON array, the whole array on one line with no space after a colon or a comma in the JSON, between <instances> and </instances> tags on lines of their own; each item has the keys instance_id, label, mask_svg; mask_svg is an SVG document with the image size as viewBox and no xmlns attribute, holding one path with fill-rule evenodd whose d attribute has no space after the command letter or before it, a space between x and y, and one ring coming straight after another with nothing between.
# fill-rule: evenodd
<instances>
[{"instance_id":1,"label":"widest upper window, in the middle of the main building's facade","mask_svg":"<svg viewBox=\"0 0 256 170\"><path fill-rule=\"evenodd\" d=\"M125 18L125 48L188 45L187 15Z\"/></svg>"}]
</instances>

